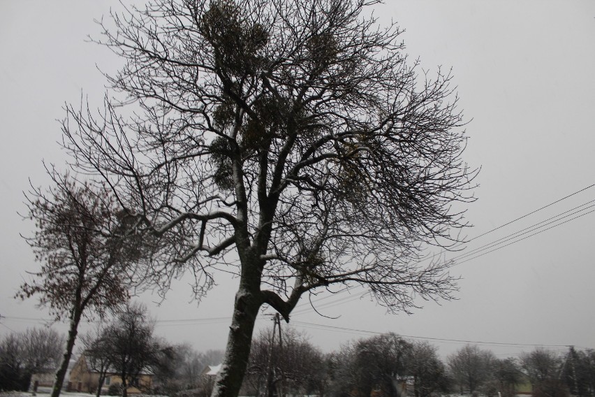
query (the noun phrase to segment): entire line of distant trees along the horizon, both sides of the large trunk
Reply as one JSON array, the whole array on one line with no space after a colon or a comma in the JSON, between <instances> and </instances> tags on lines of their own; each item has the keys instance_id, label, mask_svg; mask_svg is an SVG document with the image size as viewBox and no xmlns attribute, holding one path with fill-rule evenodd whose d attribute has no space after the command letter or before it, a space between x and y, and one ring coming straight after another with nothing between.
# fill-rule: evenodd
<instances>
[{"instance_id":1,"label":"entire line of distant trees along the horizon, both sides of the large trunk","mask_svg":"<svg viewBox=\"0 0 595 397\"><path fill-rule=\"evenodd\" d=\"M171 344L154 335L154 321L138 304L84 335L79 354L99 374L93 388L101 394L106 376L109 394L126 397L135 386L145 393L207 397L214 377L207 366L223 361L223 352L196 352L189 344ZM27 390L31 375L59 368L66 338L51 329L11 333L0 340L0 390ZM489 349L465 345L446 359L425 341L394 333L352 340L330 353L291 327L255 336L241 387L245 396L415 397L443 394L513 397L592 397L595 395L595 350L569 347L566 352L536 348L517 357L498 358ZM139 383L150 373L149 385Z\"/></svg>"}]
</instances>

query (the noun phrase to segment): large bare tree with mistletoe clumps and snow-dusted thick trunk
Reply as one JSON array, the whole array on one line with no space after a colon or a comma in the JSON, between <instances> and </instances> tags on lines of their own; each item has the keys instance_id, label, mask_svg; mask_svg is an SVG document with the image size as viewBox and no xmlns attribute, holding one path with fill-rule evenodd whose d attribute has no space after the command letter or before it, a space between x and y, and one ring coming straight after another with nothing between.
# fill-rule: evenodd
<instances>
[{"instance_id":1,"label":"large bare tree with mistletoe clumps and snow-dusted thick trunk","mask_svg":"<svg viewBox=\"0 0 595 397\"><path fill-rule=\"evenodd\" d=\"M475 171L450 74L418 74L374 0L154 1L112 15L98 42L124 59L118 101L68 107L64 145L161 238L164 289L196 296L239 276L213 396L236 396L258 310L365 284L390 310L450 298ZM124 97L119 96L123 94ZM124 108L122 108L124 106ZM129 109L129 110L126 110Z\"/></svg>"}]
</instances>

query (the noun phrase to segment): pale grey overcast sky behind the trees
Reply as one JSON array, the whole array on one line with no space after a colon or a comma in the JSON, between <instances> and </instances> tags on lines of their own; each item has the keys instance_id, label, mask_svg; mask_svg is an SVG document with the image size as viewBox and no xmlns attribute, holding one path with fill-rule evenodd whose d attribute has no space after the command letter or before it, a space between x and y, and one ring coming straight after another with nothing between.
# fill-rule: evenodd
<instances>
[{"instance_id":1,"label":"pale grey overcast sky behind the trees","mask_svg":"<svg viewBox=\"0 0 595 397\"><path fill-rule=\"evenodd\" d=\"M481 347L500 356L528 352L531 345L595 348L595 213L589 213L595 200L595 2L386 2L376 9L379 22L392 19L406 29L406 52L423 68L453 69L460 108L472 119L464 158L482 171L478 201L467 212L471 241L467 250L450 254L458 257L453 273L462 277L460 292L441 305L420 302L423 309L413 315L387 314L358 291L319 296L315 305L327 317L304 302L292 317L295 328L325 351L372 335L362 331L430 338L441 354L462 341L489 342ZM38 266L20 238L32 225L17 211L25 211L29 178L47 184L42 160L64 164L56 143L64 103L78 103L84 94L99 104L105 80L96 66L114 71L119 65L108 50L85 42L98 35L94 19L110 6L119 3L0 1L0 335L47 318L35 301L12 298L25 272ZM557 215L567 217L550 219ZM543 227L515 238L534 225ZM159 307L156 296L143 295L157 333L199 350L223 349L237 280L216 281L200 305L191 302L184 280ZM257 326L270 324L263 315Z\"/></svg>"}]
</instances>

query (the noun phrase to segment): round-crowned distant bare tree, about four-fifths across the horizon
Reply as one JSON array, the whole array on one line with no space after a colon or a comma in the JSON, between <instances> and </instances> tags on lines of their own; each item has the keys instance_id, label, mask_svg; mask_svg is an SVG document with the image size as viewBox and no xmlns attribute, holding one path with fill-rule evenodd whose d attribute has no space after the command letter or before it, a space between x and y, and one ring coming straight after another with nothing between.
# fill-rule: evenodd
<instances>
[{"instance_id":1,"label":"round-crowned distant bare tree, about four-fifths across the horizon","mask_svg":"<svg viewBox=\"0 0 595 397\"><path fill-rule=\"evenodd\" d=\"M490 380L494 371L496 356L490 350L482 350L476 345L465 345L448 356L448 368L460 391L477 391Z\"/></svg>"}]
</instances>

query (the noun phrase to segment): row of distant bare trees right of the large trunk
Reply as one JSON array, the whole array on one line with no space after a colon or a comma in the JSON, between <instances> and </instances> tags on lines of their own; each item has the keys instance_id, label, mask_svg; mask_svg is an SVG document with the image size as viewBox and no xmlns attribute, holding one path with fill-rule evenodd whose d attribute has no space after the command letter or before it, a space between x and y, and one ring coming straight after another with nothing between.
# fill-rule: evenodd
<instances>
[{"instance_id":1,"label":"row of distant bare trees right of the large trunk","mask_svg":"<svg viewBox=\"0 0 595 397\"><path fill-rule=\"evenodd\" d=\"M443 359L429 342L385 333L323 354L291 328L278 335L268 329L253 343L244 382L244 394L251 396L595 395L594 349L537 347L498 358L489 349L464 345Z\"/></svg>"}]
</instances>

